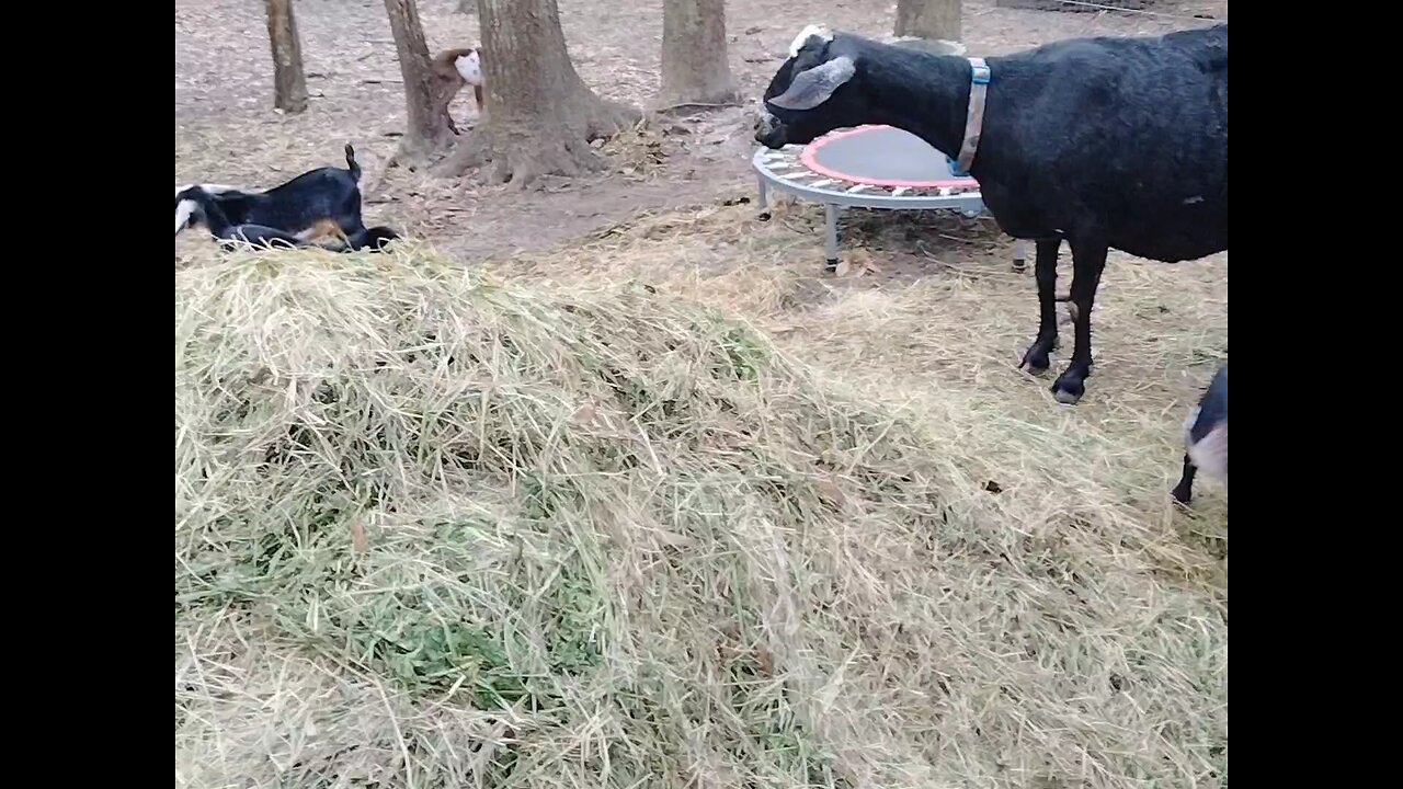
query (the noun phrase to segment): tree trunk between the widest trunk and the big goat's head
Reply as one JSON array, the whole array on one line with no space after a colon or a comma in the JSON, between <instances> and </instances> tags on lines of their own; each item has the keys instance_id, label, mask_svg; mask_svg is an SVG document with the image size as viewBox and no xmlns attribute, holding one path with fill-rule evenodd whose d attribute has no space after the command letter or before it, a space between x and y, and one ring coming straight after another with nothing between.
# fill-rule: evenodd
<instances>
[{"instance_id":1,"label":"tree trunk between the widest trunk and the big goat's head","mask_svg":"<svg viewBox=\"0 0 1403 789\"><path fill-rule=\"evenodd\" d=\"M657 104L724 104L735 97L725 51L725 0L662 0L662 90Z\"/></svg>"}]
</instances>

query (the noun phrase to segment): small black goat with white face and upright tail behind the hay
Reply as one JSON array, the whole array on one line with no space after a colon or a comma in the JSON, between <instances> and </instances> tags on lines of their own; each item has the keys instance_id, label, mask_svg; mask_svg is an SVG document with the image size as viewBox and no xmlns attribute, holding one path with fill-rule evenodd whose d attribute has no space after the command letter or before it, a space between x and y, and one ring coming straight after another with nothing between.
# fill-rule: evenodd
<instances>
[{"instance_id":1,"label":"small black goat with white face and upright tail behind the hay","mask_svg":"<svg viewBox=\"0 0 1403 789\"><path fill-rule=\"evenodd\" d=\"M205 225L229 247L239 241L274 247L380 250L398 233L366 227L361 218L361 166L347 145L347 168L318 167L271 190L196 184L175 190L175 234ZM340 247L313 240L333 236Z\"/></svg>"}]
</instances>

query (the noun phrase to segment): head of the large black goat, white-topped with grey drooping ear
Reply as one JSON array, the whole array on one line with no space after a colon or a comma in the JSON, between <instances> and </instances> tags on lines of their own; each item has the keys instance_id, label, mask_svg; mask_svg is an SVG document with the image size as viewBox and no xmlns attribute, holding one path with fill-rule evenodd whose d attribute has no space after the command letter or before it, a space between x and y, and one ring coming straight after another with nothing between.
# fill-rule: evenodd
<instances>
[{"instance_id":1,"label":"head of the large black goat, white-topped with grey drooping ear","mask_svg":"<svg viewBox=\"0 0 1403 789\"><path fill-rule=\"evenodd\" d=\"M868 117L866 98L852 86L857 51L843 37L815 25L790 45L790 56L765 88L755 139L766 147L801 145Z\"/></svg>"}]
</instances>

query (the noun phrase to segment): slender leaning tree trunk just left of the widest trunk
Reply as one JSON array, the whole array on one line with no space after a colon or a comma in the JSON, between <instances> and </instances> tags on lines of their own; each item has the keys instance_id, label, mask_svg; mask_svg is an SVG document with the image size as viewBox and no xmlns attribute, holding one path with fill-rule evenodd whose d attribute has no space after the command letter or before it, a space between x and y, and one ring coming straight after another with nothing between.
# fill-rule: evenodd
<instances>
[{"instance_id":1,"label":"slender leaning tree trunk just left of the widest trunk","mask_svg":"<svg viewBox=\"0 0 1403 789\"><path fill-rule=\"evenodd\" d=\"M448 104L453 98L452 86L434 73L414 0L384 0L384 10L390 15L390 32L400 55L407 119L394 161L425 161L453 142L448 114Z\"/></svg>"}]
</instances>

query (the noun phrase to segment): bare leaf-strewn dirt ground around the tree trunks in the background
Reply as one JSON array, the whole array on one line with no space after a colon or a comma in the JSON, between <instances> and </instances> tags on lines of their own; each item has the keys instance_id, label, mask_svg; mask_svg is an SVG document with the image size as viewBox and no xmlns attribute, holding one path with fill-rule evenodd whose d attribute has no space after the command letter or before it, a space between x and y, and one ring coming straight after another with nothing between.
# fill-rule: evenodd
<instances>
[{"instance_id":1,"label":"bare leaf-strewn dirt ground around the tree trunks in the background","mask_svg":"<svg viewBox=\"0 0 1403 789\"><path fill-rule=\"evenodd\" d=\"M477 15L457 0L419 0L429 49L477 44ZM1167 0L1145 13L1044 13L964 3L971 55L993 55L1087 34L1156 34L1226 20L1226 1ZM657 90L662 3L560 3L565 41L585 81L600 95L645 104ZM758 97L804 24L887 35L891 0L745 0L727 4L731 67L745 97ZM383 177L404 128L404 98L384 6L377 0L299 0L297 27L310 108L297 117L272 110L272 65L261 4L255 0L175 3L175 183L267 185L303 170L342 164L355 145L368 173L368 223L390 223L464 260L539 248L638 211L704 204L753 192L748 173L751 118L745 108L693 118L686 133L651 146L622 145L612 171L515 191L429 178L405 170ZM460 124L476 110L469 95L453 107ZM659 153L662 156L659 156ZM182 239L182 243L191 243ZM178 244L180 248L180 244ZM817 253L815 253L817 254ZM901 267L888 271L897 271Z\"/></svg>"}]
</instances>

